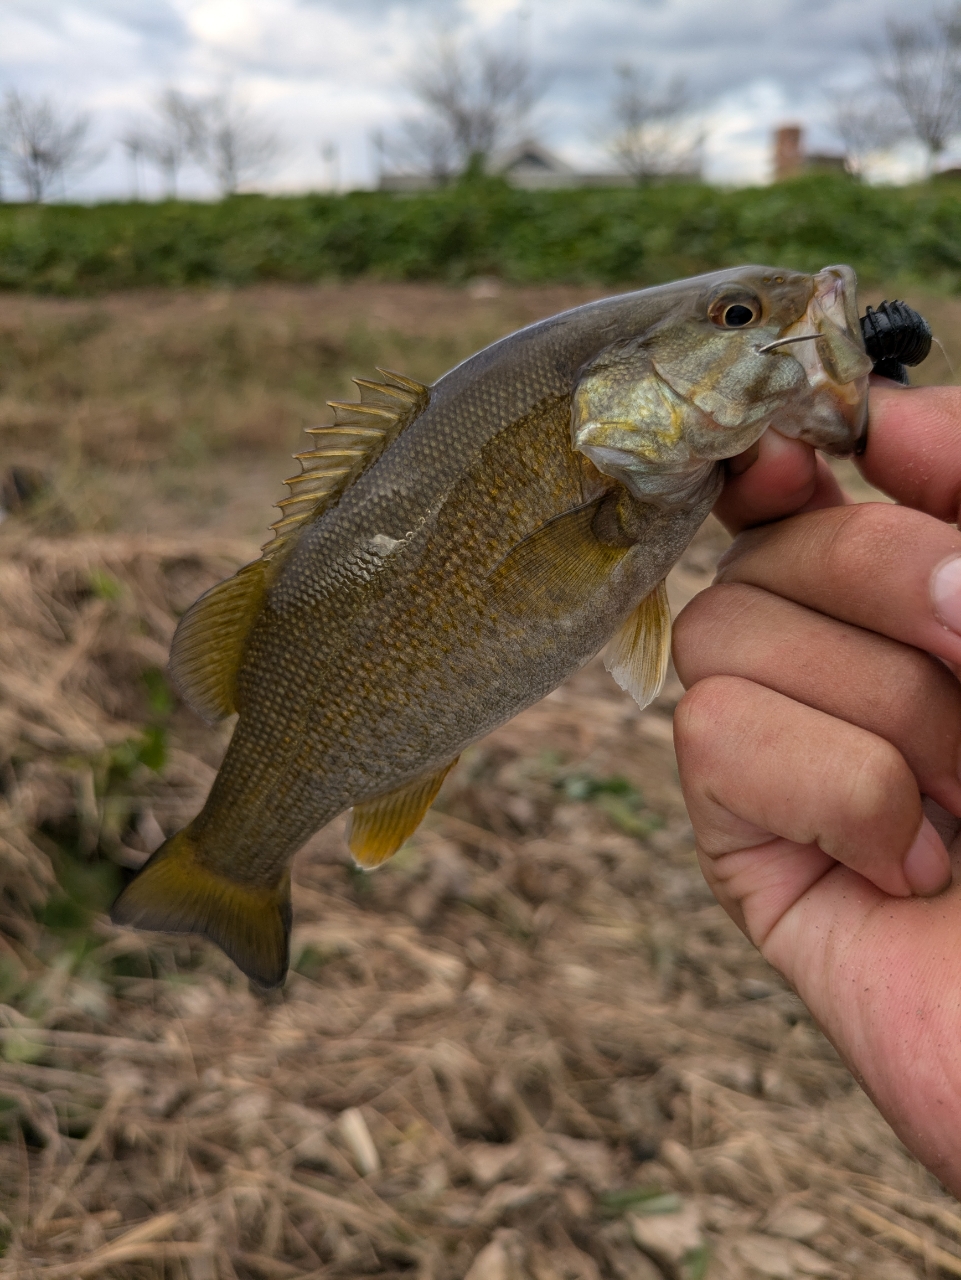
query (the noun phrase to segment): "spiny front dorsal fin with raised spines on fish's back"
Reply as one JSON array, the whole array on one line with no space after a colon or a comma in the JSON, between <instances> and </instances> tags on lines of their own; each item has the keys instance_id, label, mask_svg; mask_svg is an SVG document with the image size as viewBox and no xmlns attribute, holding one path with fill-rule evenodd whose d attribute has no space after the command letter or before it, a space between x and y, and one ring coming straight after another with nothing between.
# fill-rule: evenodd
<instances>
[{"instance_id":1,"label":"spiny front dorsal fin with raised spines on fish's back","mask_svg":"<svg viewBox=\"0 0 961 1280\"><path fill-rule=\"evenodd\" d=\"M274 538L264 547L265 559L273 559L307 521L331 507L426 406L430 392L422 383L388 369L377 372L385 381L353 379L360 402L329 401L330 426L307 428L315 447L294 454L301 474L284 481L290 497L278 503L280 520L270 526Z\"/></svg>"}]
</instances>

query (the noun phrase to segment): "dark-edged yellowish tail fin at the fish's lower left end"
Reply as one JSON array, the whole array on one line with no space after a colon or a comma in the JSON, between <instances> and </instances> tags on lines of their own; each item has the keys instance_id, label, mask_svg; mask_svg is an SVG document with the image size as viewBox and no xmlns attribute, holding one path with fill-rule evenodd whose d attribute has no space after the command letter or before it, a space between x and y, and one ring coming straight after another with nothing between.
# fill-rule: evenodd
<instances>
[{"instance_id":1,"label":"dark-edged yellowish tail fin at the fish's lower left end","mask_svg":"<svg viewBox=\"0 0 961 1280\"><path fill-rule=\"evenodd\" d=\"M186 827L143 864L110 910L114 924L201 933L261 987L287 975L290 877L273 887L242 884L205 867Z\"/></svg>"}]
</instances>

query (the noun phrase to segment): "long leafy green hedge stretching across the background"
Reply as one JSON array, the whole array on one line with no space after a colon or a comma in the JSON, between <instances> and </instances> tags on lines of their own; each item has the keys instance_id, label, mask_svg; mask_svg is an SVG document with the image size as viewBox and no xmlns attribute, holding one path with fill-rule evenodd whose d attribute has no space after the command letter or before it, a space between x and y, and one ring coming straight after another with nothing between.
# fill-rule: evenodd
<instances>
[{"instance_id":1,"label":"long leafy green hedge stretching across the background","mask_svg":"<svg viewBox=\"0 0 961 1280\"><path fill-rule=\"evenodd\" d=\"M961 183L234 196L220 204L0 205L0 288L311 282L358 275L651 284L737 262L850 262L961 288Z\"/></svg>"}]
</instances>

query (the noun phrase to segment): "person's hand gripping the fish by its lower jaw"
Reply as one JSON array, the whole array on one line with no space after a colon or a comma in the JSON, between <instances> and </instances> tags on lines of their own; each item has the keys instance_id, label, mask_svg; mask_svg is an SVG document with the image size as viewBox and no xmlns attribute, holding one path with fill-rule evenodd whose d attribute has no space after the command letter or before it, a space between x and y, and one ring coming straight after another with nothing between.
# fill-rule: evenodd
<instances>
[{"instance_id":1,"label":"person's hand gripping the fish by its lower jaw","mask_svg":"<svg viewBox=\"0 0 961 1280\"><path fill-rule=\"evenodd\" d=\"M921 805L953 836L961 390L873 388L861 467L905 506L842 506L772 433L736 465L718 512L747 531L676 623L678 764L719 901L957 1194L961 856L933 896L951 861Z\"/></svg>"}]
</instances>

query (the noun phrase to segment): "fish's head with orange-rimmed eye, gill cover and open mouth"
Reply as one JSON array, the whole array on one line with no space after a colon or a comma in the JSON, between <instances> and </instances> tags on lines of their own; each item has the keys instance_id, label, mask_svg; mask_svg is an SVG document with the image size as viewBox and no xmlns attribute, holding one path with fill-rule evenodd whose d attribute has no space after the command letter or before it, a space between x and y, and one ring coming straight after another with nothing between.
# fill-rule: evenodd
<instances>
[{"instance_id":1,"label":"fish's head with orange-rimmed eye, gill cover and open mouth","mask_svg":"<svg viewBox=\"0 0 961 1280\"><path fill-rule=\"evenodd\" d=\"M851 453L868 374L850 266L772 268L681 282L653 323L601 351L572 402L575 448L639 495L683 489L770 426Z\"/></svg>"}]
</instances>

